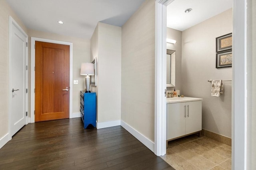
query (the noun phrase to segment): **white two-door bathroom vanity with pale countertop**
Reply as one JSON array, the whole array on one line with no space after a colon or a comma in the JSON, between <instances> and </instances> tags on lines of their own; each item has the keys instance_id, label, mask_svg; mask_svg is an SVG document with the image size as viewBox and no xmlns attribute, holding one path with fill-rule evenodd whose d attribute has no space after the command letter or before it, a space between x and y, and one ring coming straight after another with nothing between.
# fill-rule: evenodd
<instances>
[{"instance_id":1,"label":"white two-door bathroom vanity with pale countertop","mask_svg":"<svg viewBox=\"0 0 256 170\"><path fill-rule=\"evenodd\" d=\"M202 99L166 98L167 141L202 130Z\"/></svg>"}]
</instances>

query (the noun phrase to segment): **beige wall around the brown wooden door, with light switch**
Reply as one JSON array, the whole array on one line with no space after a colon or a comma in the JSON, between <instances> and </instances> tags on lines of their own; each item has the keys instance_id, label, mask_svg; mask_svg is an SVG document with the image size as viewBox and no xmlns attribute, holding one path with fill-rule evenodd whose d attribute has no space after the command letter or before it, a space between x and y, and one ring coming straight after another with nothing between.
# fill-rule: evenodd
<instances>
[{"instance_id":1,"label":"beige wall around the brown wooden door, with light switch","mask_svg":"<svg viewBox=\"0 0 256 170\"><path fill-rule=\"evenodd\" d=\"M80 113L80 90L85 89L85 76L80 75L80 67L82 62L90 62L90 40L77 37L68 37L54 33L46 33L29 29L29 47L31 37L52 39L58 41L67 41L73 43L73 81L78 80L78 84L73 84L73 113ZM30 48L29 48L30 61ZM30 63L29 63L30 68ZM29 76L30 77L30 76Z\"/></svg>"}]
</instances>

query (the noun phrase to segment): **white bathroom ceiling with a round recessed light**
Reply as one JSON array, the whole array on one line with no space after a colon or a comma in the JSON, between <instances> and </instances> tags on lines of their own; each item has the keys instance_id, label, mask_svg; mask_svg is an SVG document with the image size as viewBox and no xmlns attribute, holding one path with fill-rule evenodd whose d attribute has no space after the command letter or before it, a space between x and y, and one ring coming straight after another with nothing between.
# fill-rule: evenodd
<instances>
[{"instance_id":1,"label":"white bathroom ceiling with a round recessed light","mask_svg":"<svg viewBox=\"0 0 256 170\"><path fill-rule=\"evenodd\" d=\"M167 6L167 27L184 31L233 6L233 0L174 0ZM184 11L191 8L192 11Z\"/></svg>"}]
</instances>

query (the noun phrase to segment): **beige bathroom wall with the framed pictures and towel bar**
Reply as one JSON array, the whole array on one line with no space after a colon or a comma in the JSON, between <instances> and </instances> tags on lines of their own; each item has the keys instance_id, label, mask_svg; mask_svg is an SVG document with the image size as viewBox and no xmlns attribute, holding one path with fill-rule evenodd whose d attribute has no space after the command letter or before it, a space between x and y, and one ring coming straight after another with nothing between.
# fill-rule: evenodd
<instances>
[{"instance_id":1,"label":"beige bathroom wall with the framed pictures and towel bar","mask_svg":"<svg viewBox=\"0 0 256 170\"><path fill-rule=\"evenodd\" d=\"M232 9L182 32L182 93L203 98L202 128L231 138L232 82L224 93L211 96L207 80L232 80L232 68L215 68L215 38L232 32Z\"/></svg>"}]
</instances>

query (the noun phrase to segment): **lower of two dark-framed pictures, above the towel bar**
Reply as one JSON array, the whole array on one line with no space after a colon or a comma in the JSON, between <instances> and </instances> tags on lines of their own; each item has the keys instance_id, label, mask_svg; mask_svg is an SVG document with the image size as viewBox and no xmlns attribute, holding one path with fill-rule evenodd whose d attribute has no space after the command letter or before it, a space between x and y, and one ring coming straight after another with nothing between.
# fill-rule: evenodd
<instances>
[{"instance_id":1,"label":"lower of two dark-framed pictures, above the towel bar","mask_svg":"<svg viewBox=\"0 0 256 170\"><path fill-rule=\"evenodd\" d=\"M216 68L232 66L232 50L216 53Z\"/></svg>"}]
</instances>

